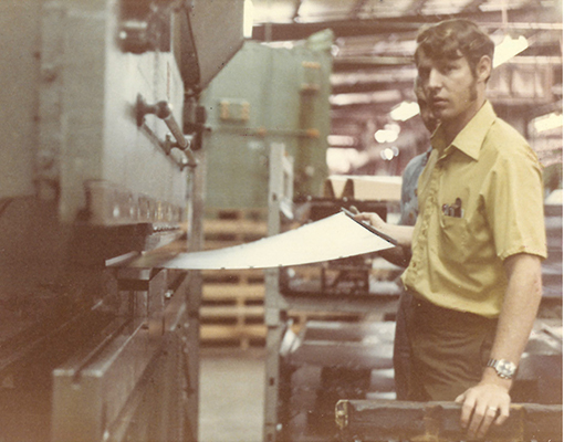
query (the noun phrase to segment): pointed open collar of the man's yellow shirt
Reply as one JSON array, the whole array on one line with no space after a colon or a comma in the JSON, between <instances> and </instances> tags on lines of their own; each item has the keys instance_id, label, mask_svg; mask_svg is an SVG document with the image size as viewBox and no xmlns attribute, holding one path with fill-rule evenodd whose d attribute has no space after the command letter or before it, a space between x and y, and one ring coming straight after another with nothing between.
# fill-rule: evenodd
<instances>
[{"instance_id":1,"label":"pointed open collar of the man's yellow shirt","mask_svg":"<svg viewBox=\"0 0 564 442\"><path fill-rule=\"evenodd\" d=\"M495 118L497 115L491 103L485 101L480 110L478 110L472 119L457 135L452 141L452 146L468 155L470 158L478 160L483 139L485 138L488 130L490 130L490 126L495 122ZM446 146L440 126L435 134L432 134L431 145L439 151L445 151L446 148L449 147Z\"/></svg>"}]
</instances>

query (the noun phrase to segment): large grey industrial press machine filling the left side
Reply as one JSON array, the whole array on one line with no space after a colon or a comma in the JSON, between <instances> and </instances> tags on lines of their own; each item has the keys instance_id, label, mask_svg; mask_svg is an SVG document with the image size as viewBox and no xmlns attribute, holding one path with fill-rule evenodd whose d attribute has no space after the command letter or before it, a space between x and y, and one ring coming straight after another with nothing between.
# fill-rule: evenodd
<instances>
[{"instance_id":1,"label":"large grey industrial press machine filling the left side","mask_svg":"<svg viewBox=\"0 0 564 442\"><path fill-rule=\"evenodd\" d=\"M242 12L1 2L0 440L196 439L199 278L122 263L200 246L199 94Z\"/></svg>"}]
</instances>

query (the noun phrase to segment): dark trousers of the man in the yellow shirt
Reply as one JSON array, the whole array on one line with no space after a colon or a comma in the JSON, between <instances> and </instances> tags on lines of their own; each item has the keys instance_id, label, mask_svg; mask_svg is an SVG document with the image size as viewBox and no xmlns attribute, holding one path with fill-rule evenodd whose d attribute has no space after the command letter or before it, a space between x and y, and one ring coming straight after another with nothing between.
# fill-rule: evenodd
<instances>
[{"instance_id":1,"label":"dark trousers of the man in the yellow shirt","mask_svg":"<svg viewBox=\"0 0 564 442\"><path fill-rule=\"evenodd\" d=\"M480 381L498 320L438 307L414 295L404 302L405 332L399 333L407 336L409 370L401 399L453 401Z\"/></svg>"}]
</instances>

